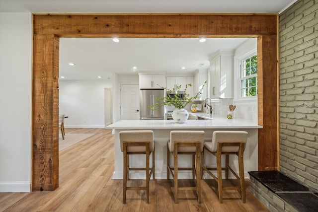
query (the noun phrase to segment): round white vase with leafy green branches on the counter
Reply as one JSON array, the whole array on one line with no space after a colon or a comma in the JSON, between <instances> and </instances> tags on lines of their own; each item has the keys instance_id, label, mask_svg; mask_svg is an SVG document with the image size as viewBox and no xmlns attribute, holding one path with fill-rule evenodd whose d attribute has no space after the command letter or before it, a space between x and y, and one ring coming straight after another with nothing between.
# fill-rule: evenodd
<instances>
[{"instance_id":1,"label":"round white vase with leafy green branches on the counter","mask_svg":"<svg viewBox=\"0 0 318 212\"><path fill-rule=\"evenodd\" d=\"M160 102L150 106L150 108L152 110L156 110L159 107L162 107L164 105L174 106L176 109L172 113L172 119L176 123L184 123L189 117L188 111L186 109L184 109L185 106L189 103L195 104L194 100L197 99L202 94L202 90L203 90L203 87L204 87L206 82L207 81L205 81L203 83L203 85L200 88L200 91L195 96L190 96L187 93L187 88L191 87L192 84L186 84L185 89L182 90L182 91L184 91L183 97L180 97L180 95L179 95L181 85L178 85L176 89L175 88L169 89L166 87L161 87L159 85L161 88L165 89L166 91L170 91L171 93L174 93L176 95L170 95L170 96L164 96L164 97L157 98L157 100L159 100Z\"/></svg>"}]
</instances>

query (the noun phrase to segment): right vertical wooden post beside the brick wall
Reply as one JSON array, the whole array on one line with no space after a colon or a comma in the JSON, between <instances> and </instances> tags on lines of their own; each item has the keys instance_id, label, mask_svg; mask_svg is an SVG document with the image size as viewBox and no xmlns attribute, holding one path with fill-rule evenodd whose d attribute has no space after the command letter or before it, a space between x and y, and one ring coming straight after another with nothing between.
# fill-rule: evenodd
<instances>
[{"instance_id":1,"label":"right vertical wooden post beside the brick wall","mask_svg":"<svg viewBox=\"0 0 318 212\"><path fill-rule=\"evenodd\" d=\"M258 55L258 170L277 170L277 38L257 39ZM275 139L276 138L276 139Z\"/></svg>"}]
</instances>

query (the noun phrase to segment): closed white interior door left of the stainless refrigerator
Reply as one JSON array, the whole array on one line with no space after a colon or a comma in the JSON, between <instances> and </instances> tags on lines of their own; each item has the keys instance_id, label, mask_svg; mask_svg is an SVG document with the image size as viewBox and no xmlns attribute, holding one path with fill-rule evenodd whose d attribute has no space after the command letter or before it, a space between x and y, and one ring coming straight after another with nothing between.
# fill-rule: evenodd
<instances>
[{"instance_id":1,"label":"closed white interior door left of the stainless refrigerator","mask_svg":"<svg viewBox=\"0 0 318 212\"><path fill-rule=\"evenodd\" d=\"M120 120L139 119L139 85L121 85Z\"/></svg>"}]
</instances>

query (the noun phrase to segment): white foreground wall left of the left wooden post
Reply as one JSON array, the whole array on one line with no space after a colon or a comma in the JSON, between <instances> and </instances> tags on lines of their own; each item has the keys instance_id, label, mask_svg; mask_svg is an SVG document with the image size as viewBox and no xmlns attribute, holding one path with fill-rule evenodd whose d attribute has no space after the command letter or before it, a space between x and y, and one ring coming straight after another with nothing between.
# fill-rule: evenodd
<instances>
[{"instance_id":1,"label":"white foreground wall left of the left wooden post","mask_svg":"<svg viewBox=\"0 0 318 212\"><path fill-rule=\"evenodd\" d=\"M0 192L31 182L31 13L0 13Z\"/></svg>"}]
</instances>

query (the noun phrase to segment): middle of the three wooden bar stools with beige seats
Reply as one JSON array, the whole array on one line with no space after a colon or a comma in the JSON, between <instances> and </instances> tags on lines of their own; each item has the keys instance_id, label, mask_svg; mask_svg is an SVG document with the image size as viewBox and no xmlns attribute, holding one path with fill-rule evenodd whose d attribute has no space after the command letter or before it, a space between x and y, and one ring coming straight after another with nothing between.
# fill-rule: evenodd
<instances>
[{"instance_id":1,"label":"middle of the three wooden bar stools with beige seats","mask_svg":"<svg viewBox=\"0 0 318 212\"><path fill-rule=\"evenodd\" d=\"M200 184L200 152L203 150L204 131L171 131L170 141L167 144L167 179L170 172L174 181L174 203L178 201L178 190L195 190L198 195L198 203L201 203L201 184ZM173 153L174 167L170 167L170 152ZM178 167L178 154L192 155L192 167ZM173 170L173 172L172 172ZM192 177L196 176L196 186L178 186L178 170L192 170Z\"/></svg>"}]
</instances>

